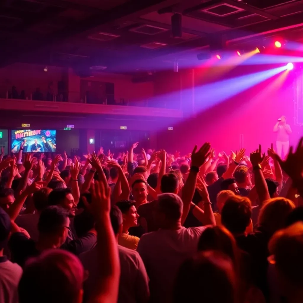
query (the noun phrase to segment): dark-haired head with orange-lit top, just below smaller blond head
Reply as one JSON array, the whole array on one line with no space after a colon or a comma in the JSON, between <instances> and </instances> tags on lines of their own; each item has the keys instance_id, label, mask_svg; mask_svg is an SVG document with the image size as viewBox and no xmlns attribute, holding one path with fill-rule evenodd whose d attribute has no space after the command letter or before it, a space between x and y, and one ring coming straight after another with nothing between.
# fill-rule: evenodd
<instances>
[{"instance_id":1,"label":"dark-haired head with orange-lit top, just below smaller blond head","mask_svg":"<svg viewBox=\"0 0 303 303\"><path fill-rule=\"evenodd\" d=\"M225 202L221 222L233 235L243 234L250 220L251 202L248 198L235 195Z\"/></svg>"}]
</instances>

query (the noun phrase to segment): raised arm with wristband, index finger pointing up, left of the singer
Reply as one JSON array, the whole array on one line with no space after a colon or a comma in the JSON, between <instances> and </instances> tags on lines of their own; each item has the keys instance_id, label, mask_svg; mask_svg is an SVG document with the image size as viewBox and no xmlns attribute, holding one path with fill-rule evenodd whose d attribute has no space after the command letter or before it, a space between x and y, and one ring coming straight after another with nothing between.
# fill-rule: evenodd
<instances>
[{"instance_id":1,"label":"raised arm with wristband, index finger pointing up, left of the singer","mask_svg":"<svg viewBox=\"0 0 303 303\"><path fill-rule=\"evenodd\" d=\"M255 187L259 196L260 206L262 206L264 201L270 199L268 187L261 168L261 162L264 158L265 154L262 155L261 145L259 145L259 149L250 154L250 161L255 175Z\"/></svg>"}]
</instances>

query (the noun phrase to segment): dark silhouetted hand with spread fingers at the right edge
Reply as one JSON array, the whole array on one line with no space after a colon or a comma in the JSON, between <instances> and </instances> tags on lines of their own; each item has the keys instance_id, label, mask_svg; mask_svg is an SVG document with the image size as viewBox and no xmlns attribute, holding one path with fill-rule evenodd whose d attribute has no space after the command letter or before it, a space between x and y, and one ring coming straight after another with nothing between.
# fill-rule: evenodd
<instances>
[{"instance_id":1,"label":"dark silhouetted hand with spread fingers at the right edge","mask_svg":"<svg viewBox=\"0 0 303 303\"><path fill-rule=\"evenodd\" d=\"M283 161L278 155L275 155L276 159L280 163L281 168L289 175L292 180L298 180L302 178L303 171L303 137L300 139L297 146L297 150L293 153L293 147L289 148L289 153L285 161Z\"/></svg>"}]
</instances>

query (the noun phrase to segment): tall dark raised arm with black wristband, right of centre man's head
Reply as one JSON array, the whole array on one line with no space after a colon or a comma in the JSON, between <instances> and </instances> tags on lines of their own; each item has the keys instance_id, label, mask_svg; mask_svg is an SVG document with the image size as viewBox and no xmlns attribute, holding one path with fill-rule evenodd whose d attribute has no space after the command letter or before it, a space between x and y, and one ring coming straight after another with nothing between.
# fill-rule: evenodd
<instances>
[{"instance_id":1,"label":"tall dark raised arm with black wristband, right of centre man's head","mask_svg":"<svg viewBox=\"0 0 303 303\"><path fill-rule=\"evenodd\" d=\"M195 189L197 185L197 178L200 167L205 162L206 158L209 156L210 144L204 143L202 147L197 151L197 145L191 153L191 168L188 174L188 178L182 189L182 201L183 201L183 214L181 218L181 224L183 225L185 219L190 210L191 200L195 194Z\"/></svg>"}]
</instances>

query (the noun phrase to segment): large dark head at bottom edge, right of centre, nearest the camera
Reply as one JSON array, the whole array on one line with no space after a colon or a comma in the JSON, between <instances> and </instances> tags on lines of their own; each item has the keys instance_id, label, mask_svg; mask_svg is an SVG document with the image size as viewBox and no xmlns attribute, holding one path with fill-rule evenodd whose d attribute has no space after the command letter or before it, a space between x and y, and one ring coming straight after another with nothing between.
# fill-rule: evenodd
<instances>
[{"instance_id":1,"label":"large dark head at bottom edge, right of centre, nearest the camera","mask_svg":"<svg viewBox=\"0 0 303 303\"><path fill-rule=\"evenodd\" d=\"M179 268L172 301L236 303L237 297L231 260L218 251L203 251L185 260Z\"/></svg>"}]
</instances>

